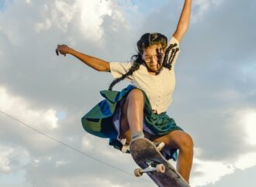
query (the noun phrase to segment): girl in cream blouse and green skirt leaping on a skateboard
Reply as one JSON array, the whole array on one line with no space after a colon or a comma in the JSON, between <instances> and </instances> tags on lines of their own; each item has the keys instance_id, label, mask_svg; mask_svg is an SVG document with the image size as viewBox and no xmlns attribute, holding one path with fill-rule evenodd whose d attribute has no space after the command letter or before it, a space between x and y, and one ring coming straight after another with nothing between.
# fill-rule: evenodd
<instances>
[{"instance_id":1,"label":"girl in cream blouse and green skirt leaping on a skateboard","mask_svg":"<svg viewBox=\"0 0 256 187\"><path fill-rule=\"evenodd\" d=\"M71 54L95 70L112 73L115 78L109 90L100 92L106 99L82 117L85 131L109 138L109 145L128 153L130 141L148 138L165 158L178 158L177 170L187 182L192 168L193 141L168 117L166 110L175 88L174 66L180 52L179 43L189 28L191 5L192 0L185 0L170 42L160 33L146 33L137 42L138 54L128 63L109 63L66 45L58 45L56 49L57 55ZM124 79L131 85L121 91L112 90Z\"/></svg>"}]
</instances>

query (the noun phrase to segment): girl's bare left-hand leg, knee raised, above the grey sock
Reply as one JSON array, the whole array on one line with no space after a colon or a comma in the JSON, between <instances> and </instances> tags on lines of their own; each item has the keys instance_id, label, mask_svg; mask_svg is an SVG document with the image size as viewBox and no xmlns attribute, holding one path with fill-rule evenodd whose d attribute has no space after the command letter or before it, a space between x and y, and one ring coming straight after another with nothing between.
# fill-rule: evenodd
<instances>
[{"instance_id":1,"label":"girl's bare left-hand leg, knee raised, above the grey sock","mask_svg":"<svg viewBox=\"0 0 256 187\"><path fill-rule=\"evenodd\" d=\"M120 137L131 141L132 134L143 132L144 94L139 89L128 93L122 107Z\"/></svg>"}]
</instances>

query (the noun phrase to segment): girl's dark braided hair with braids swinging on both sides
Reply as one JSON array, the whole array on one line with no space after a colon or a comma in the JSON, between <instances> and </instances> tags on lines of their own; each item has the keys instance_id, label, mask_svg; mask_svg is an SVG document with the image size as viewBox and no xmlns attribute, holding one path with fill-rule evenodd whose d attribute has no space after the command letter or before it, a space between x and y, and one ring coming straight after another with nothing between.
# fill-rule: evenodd
<instances>
[{"instance_id":1,"label":"girl's dark braided hair with braids swinging on both sides","mask_svg":"<svg viewBox=\"0 0 256 187\"><path fill-rule=\"evenodd\" d=\"M133 63L133 65L130 67L127 73L123 74L119 78L116 78L115 80L112 81L112 83L110 83L109 90L112 90L112 87L114 87L116 83L119 83L121 80L124 80L127 76L131 76L134 71L139 70L140 65L144 63L144 59L142 58L142 55L144 53L145 48L149 46L153 46L155 44L161 44L162 48L165 49L167 47L167 42L168 42L167 37L157 32L145 33L143 36L141 36L140 40L137 42L138 53L137 55L133 55L131 57L131 62ZM177 46L178 45L176 43L168 46L168 48L164 53L163 65L159 70L157 70L156 74L159 74L161 72L163 66L171 70L171 64L175 59L176 53L179 50Z\"/></svg>"}]
</instances>

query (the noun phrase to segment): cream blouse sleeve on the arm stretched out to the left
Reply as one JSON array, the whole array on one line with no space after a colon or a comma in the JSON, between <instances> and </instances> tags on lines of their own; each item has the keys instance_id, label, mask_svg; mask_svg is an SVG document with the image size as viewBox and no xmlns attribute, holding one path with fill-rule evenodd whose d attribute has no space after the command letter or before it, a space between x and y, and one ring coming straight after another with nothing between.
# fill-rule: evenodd
<instances>
[{"instance_id":1,"label":"cream blouse sleeve on the arm stretched out to the left","mask_svg":"<svg viewBox=\"0 0 256 187\"><path fill-rule=\"evenodd\" d=\"M109 63L110 66L110 72L113 76L113 78L119 78L123 74L127 73L128 70L130 70L130 67L132 66L131 62L126 63L120 63L120 62L111 62ZM127 76L126 79L133 80L133 76Z\"/></svg>"}]
</instances>

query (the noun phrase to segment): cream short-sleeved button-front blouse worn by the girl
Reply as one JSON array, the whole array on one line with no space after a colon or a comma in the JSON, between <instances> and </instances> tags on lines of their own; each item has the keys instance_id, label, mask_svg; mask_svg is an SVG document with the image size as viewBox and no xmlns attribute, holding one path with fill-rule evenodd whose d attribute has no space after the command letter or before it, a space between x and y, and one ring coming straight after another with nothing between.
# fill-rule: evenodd
<instances>
[{"instance_id":1,"label":"cream short-sleeved button-front blouse worn by the girl","mask_svg":"<svg viewBox=\"0 0 256 187\"><path fill-rule=\"evenodd\" d=\"M178 40L172 36L168 45L174 43L177 43L179 46ZM163 67L161 73L158 75L153 75L148 73L146 65L142 64L140 65L139 70L133 72L133 75L126 77L126 80L129 80L134 87L144 90L148 99L150 100L152 109L156 110L157 114L161 114L162 112L168 110L168 107L171 104L172 93L175 90L175 62L179 53L180 50L175 55L171 70ZM111 62L109 64L112 76L114 78L119 78L122 76L122 74L125 74L130 69L133 63Z\"/></svg>"}]
</instances>

